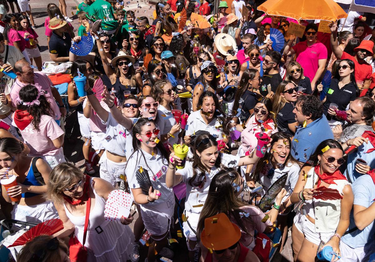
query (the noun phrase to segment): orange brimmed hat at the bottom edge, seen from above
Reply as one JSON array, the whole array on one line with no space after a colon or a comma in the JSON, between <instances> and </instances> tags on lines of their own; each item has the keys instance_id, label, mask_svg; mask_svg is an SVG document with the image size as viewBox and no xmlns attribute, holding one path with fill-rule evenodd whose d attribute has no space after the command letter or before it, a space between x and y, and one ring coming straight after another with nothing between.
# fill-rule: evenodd
<instances>
[{"instance_id":1,"label":"orange brimmed hat at the bottom edge, seen from above","mask_svg":"<svg viewBox=\"0 0 375 262\"><path fill-rule=\"evenodd\" d=\"M201 233L201 242L208 249L222 250L236 244L241 238L239 227L224 213L207 217Z\"/></svg>"}]
</instances>

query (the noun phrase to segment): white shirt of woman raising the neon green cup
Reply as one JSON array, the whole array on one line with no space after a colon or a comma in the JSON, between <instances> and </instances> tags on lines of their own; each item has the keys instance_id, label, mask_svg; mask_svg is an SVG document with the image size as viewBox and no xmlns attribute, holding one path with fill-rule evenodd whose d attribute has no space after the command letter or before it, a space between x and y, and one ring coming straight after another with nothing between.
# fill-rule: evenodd
<instances>
[{"instance_id":1,"label":"white shirt of woman raising the neon green cup","mask_svg":"<svg viewBox=\"0 0 375 262\"><path fill-rule=\"evenodd\" d=\"M234 156L229 154L221 154L221 164L225 167L237 167L240 161L240 156ZM206 201L208 189L210 188L212 178L219 173L221 168L213 167L210 173L205 172L204 184L201 188L198 186L190 186L189 180L193 177L193 162L186 161L185 167L181 170L177 170L176 174L180 174L183 178L183 182L186 184L186 200L185 200L185 210L187 212L201 213L204 202ZM192 185L198 182L199 174L202 172L196 170L197 176L195 177ZM202 178L201 178L202 179ZM201 179L199 181L201 181Z\"/></svg>"}]
</instances>

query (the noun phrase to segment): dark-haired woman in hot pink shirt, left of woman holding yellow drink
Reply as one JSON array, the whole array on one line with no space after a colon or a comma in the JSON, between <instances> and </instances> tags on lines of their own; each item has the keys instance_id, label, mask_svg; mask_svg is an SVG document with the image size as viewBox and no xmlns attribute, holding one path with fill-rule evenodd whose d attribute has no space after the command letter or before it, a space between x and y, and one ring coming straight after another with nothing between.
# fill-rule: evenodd
<instances>
[{"instance_id":1,"label":"dark-haired woman in hot pink shirt, left of woman holding yellow drink","mask_svg":"<svg viewBox=\"0 0 375 262\"><path fill-rule=\"evenodd\" d=\"M16 17L13 14L7 14L4 17L5 28L4 28L4 39L5 45L14 46L25 56L25 59L28 63L31 64L28 54L25 51L26 40L18 33L17 29L20 26L20 23L17 21Z\"/></svg>"}]
</instances>

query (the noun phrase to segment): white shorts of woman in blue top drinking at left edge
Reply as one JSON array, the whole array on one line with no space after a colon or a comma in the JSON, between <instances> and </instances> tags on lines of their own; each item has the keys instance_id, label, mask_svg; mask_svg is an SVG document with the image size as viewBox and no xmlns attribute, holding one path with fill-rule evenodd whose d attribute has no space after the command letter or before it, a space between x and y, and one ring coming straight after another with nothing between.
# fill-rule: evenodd
<instances>
[{"instance_id":1,"label":"white shorts of woman in blue top drinking at left edge","mask_svg":"<svg viewBox=\"0 0 375 262\"><path fill-rule=\"evenodd\" d=\"M11 212L12 219L41 223L49 219L58 218L58 213L51 201L46 201L37 205L14 204Z\"/></svg>"}]
</instances>

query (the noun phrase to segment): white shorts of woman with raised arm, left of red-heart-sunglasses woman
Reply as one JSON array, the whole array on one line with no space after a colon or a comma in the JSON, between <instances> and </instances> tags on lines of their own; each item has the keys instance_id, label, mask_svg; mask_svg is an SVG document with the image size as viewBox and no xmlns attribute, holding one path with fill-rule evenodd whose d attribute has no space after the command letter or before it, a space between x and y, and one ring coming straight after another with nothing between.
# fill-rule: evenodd
<instances>
[{"instance_id":1,"label":"white shorts of woman with raised arm, left of red-heart-sunglasses woman","mask_svg":"<svg viewBox=\"0 0 375 262\"><path fill-rule=\"evenodd\" d=\"M99 165L101 179L107 180L113 186L115 186L117 182L122 181L120 175L125 175L126 162L116 163L111 161L107 157L107 150L105 150L99 160Z\"/></svg>"}]
</instances>

